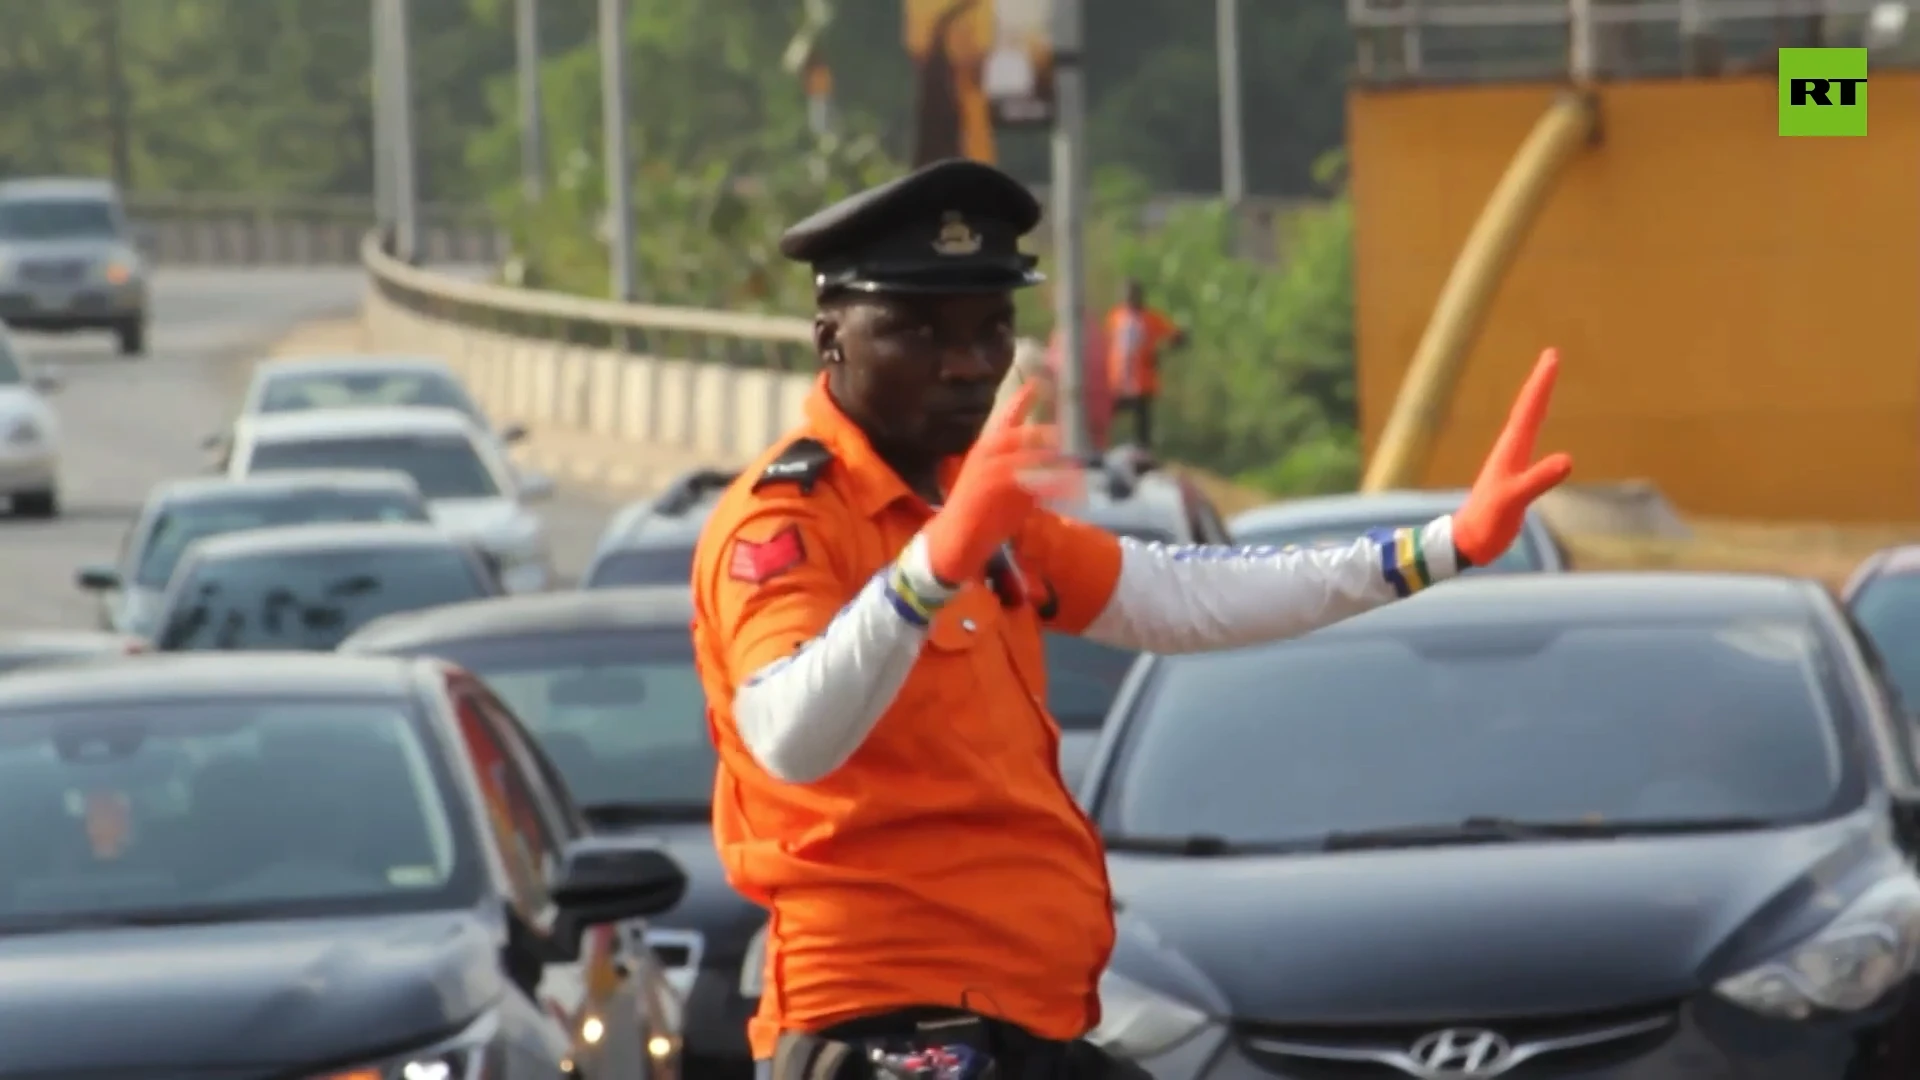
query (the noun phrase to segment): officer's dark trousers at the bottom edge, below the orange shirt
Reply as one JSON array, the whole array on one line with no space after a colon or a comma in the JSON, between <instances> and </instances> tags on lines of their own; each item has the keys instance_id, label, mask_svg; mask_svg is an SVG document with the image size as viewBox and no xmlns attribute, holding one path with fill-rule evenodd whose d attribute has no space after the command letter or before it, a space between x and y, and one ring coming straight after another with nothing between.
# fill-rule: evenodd
<instances>
[{"instance_id":1,"label":"officer's dark trousers at the bottom edge, below the orange shirt","mask_svg":"<svg viewBox=\"0 0 1920 1080\"><path fill-rule=\"evenodd\" d=\"M1043 1040L1016 1024L952 1009L900 1009L835 1024L818 1034L783 1034L774 1061L755 1063L755 1080L899 1080L874 1051L966 1045L987 1063L977 1080L1148 1080L1144 1068L1089 1042Z\"/></svg>"}]
</instances>

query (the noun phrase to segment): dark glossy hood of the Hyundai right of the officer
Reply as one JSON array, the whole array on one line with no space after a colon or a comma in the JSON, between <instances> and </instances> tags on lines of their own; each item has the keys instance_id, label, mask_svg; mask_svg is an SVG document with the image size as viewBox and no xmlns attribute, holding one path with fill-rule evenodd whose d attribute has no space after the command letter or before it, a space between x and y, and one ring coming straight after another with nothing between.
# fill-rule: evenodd
<instances>
[{"instance_id":1,"label":"dark glossy hood of the Hyundai right of the officer","mask_svg":"<svg viewBox=\"0 0 1920 1080\"><path fill-rule=\"evenodd\" d=\"M1572 1015L1695 990L1736 934L1770 942L1878 847L1859 821L1711 836L1331 855L1110 857L1121 974L1240 1020ZM1786 899L1768 907L1768 901ZM1764 919L1763 919L1764 911ZM1772 919L1772 926L1761 926ZM1793 932L1807 932L1795 926ZM1171 955L1169 955L1171 953ZM1148 970L1156 969L1156 970Z\"/></svg>"}]
</instances>

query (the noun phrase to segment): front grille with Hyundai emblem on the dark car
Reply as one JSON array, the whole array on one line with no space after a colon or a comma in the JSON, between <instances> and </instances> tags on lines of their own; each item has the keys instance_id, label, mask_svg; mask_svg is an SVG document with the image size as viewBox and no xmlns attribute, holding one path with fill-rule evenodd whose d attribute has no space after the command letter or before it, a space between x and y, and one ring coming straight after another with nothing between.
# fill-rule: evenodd
<instances>
[{"instance_id":1,"label":"front grille with Hyundai emblem on the dark car","mask_svg":"<svg viewBox=\"0 0 1920 1080\"><path fill-rule=\"evenodd\" d=\"M1236 1024L1250 1059L1288 1080L1500 1076L1548 1080L1617 1067L1665 1042L1678 1005L1576 1017L1450 1019L1419 1024ZM1448 1038L1452 1032L1452 1038ZM1482 1042L1482 1034L1492 1034ZM1480 1059L1469 1061L1476 1049ZM1452 1047L1452 1053L1448 1051ZM1440 1065L1438 1068L1434 1065ZM1469 1067L1478 1065L1475 1072Z\"/></svg>"}]
</instances>

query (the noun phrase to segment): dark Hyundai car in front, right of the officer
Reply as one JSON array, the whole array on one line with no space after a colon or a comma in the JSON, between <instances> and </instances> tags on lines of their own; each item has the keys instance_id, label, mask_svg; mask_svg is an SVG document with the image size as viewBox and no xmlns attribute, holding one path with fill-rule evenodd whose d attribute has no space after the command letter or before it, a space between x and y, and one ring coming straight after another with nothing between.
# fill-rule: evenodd
<instances>
[{"instance_id":1,"label":"dark Hyundai car in front, right of the officer","mask_svg":"<svg viewBox=\"0 0 1920 1080\"><path fill-rule=\"evenodd\" d=\"M1127 676L1094 1042L1162 1080L1916 1074L1916 728L1824 588L1421 596Z\"/></svg>"}]
</instances>

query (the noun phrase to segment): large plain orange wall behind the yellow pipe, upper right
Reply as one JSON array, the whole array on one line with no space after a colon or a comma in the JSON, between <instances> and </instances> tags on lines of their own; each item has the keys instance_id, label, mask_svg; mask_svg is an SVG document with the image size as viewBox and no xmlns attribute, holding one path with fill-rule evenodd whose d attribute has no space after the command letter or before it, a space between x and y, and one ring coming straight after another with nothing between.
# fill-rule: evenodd
<instances>
[{"instance_id":1,"label":"large plain orange wall behind the yellow pipe, upper right","mask_svg":"<svg viewBox=\"0 0 1920 1080\"><path fill-rule=\"evenodd\" d=\"M1555 86L1356 90L1359 407L1371 452L1440 284ZM1465 484L1534 356L1544 446L1684 511L1920 519L1920 73L1866 138L1780 138L1772 77L1601 90L1494 300L1425 484Z\"/></svg>"}]
</instances>

